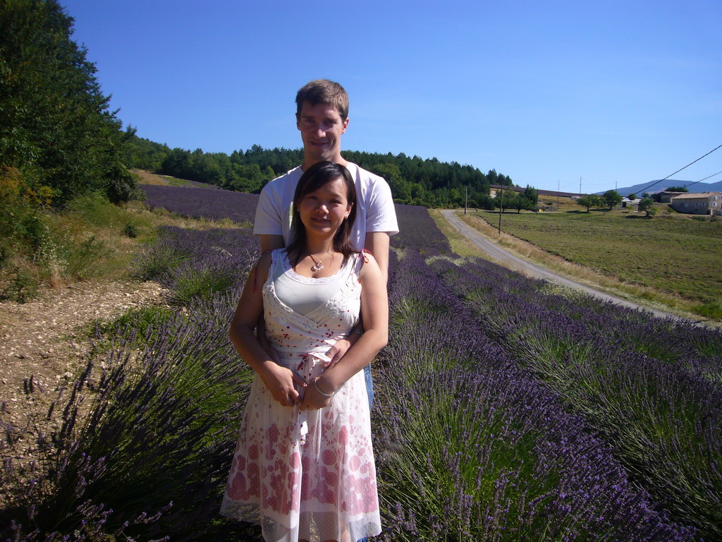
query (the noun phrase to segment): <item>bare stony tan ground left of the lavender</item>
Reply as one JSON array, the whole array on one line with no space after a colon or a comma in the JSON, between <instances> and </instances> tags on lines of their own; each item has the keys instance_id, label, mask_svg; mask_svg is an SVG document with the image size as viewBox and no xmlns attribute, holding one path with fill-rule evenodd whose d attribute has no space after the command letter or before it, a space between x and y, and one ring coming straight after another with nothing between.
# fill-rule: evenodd
<instances>
[{"instance_id":1,"label":"bare stony tan ground left of the lavender","mask_svg":"<svg viewBox=\"0 0 722 542\"><path fill-rule=\"evenodd\" d=\"M79 340L82 326L163 300L157 283L116 282L80 283L45 291L30 303L1 303L0 404L6 421L21 422L35 403L25 397L26 378L32 375L41 389L53 392L77 376L87 347Z\"/></svg>"}]
</instances>

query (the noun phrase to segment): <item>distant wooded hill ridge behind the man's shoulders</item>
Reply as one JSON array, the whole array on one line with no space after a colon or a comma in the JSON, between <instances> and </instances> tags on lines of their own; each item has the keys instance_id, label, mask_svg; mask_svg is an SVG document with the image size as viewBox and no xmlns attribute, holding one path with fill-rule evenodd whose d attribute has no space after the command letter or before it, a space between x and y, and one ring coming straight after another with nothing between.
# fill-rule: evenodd
<instances>
[{"instance_id":1,"label":"distant wooded hill ridge behind the man's shoulders","mask_svg":"<svg viewBox=\"0 0 722 542\"><path fill-rule=\"evenodd\" d=\"M344 158L386 178L396 203L425 207L469 207L494 209L490 185L513 186L509 176L494 169L482 173L471 165L440 162L437 158L409 157L378 152L344 151ZM124 145L129 168L221 186L239 192L261 192L272 178L303 162L303 150L264 149L203 152L201 149L171 149L129 132ZM511 207L505 205L505 207ZM524 207L526 208L526 207Z\"/></svg>"}]
</instances>

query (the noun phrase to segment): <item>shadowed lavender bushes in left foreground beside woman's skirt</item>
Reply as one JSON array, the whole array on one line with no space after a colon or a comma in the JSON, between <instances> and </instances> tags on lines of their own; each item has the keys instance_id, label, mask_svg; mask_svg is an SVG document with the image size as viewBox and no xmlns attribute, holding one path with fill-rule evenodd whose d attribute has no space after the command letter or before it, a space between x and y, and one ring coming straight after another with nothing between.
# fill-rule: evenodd
<instances>
[{"instance_id":1,"label":"shadowed lavender bushes in left foreground beside woman's skirt","mask_svg":"<svg viewBox=\"0 0 722 542\"><path fill-rule=\"evenodd\" d=\"M90 354L70 396L51 406L63 408L61 426L38 428L37 478L12 496L25 536L82 530L89 509L106 511L99 533L202 533L217 512L251 378L226 337L232 297L194 300L187 314L148 329L142 351L121 339ZM132 525L134 517L153 521Z\"/></svg>"}]
</instances>

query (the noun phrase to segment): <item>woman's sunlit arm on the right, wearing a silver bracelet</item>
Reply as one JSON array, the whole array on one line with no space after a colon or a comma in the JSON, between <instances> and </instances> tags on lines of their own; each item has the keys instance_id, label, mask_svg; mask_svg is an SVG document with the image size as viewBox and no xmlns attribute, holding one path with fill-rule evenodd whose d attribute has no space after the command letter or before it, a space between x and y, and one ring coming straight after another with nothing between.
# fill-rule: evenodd
<instances>
[{"instance_id":1,"label":"woman's sunlit arm on the right, wearing a silver bracelet","mask_svg":"<svg viewBox=\"0 0 722 542\"><path fill-rule=\"evenodd\" d=\"M318 377L316 384L310 384L306 388L301 410L328 405L330 398L321 395L316 386L326 394L336 392L349 378L369 364L388 343L386 280L373 256L365 254L365 257L368 261L363 264L360 273L361 314L365 332L339 363L326 369L321 377Z\"/></svg>"}]
</instances>

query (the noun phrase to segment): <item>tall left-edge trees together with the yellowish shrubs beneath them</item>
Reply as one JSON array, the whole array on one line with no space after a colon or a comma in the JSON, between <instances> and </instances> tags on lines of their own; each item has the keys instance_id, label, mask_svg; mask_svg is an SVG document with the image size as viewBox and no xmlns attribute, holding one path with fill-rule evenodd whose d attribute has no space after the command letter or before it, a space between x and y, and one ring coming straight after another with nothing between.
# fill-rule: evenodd
<instances>
[{"instance_id":1,"label":"tall left-edge trees together with the yellowish shrubs beneath them","mask_svg":"<svg viewBox=\"0 0 722 542\"><path fill-rule=\"evenodd\" d=\"M0 29L0 300L22 301L45 278L78 275L73 254L100 251L61 231L56 210L142 191L121 152L133 131L71 39L72 17L55 0L0 0Z\"/></svg>"}]
</instances>

